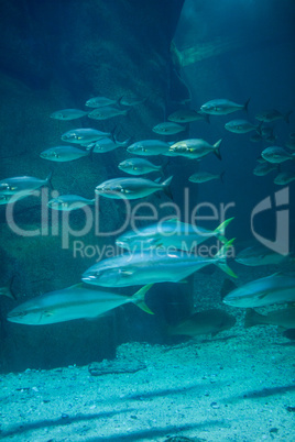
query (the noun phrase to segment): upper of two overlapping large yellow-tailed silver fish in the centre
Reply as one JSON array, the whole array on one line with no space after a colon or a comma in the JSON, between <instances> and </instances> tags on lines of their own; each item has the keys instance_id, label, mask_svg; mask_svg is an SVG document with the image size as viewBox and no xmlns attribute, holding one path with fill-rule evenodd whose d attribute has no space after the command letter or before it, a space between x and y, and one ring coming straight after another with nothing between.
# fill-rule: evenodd
<instances>
[{"instance_id":1,"label":"upper of two overlapping large yellow-tailed silver fish in the centre","mask_svg":"<svg viewBox=\"0 0 295 442\"><path fill-rule=\"evenodd\" d=\"M153 247L175 247L177 250L193 251L193 247L196 247L196 245L201 244L209 237L218 237L222 243L227 242L225 229L232 220L233 218L230 218L215 230L207 230L173 218L167 221L146 225L136 231L131 230L125 232L116 240L116 244L128 251Z\"/></svg>"}]
</instances>

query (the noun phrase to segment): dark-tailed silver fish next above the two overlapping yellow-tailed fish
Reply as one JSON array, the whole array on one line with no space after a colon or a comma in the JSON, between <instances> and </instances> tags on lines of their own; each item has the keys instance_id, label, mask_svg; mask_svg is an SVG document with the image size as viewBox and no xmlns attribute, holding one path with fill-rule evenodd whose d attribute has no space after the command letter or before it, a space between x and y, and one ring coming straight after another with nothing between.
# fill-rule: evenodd
<instances>
[{"instance_id":1,"label":"dark-tailed silver fish next above the two overlapping yellow-tailed fish","mask_svg":"<svg viewBox=\"0 0 295 442\"><path fill-rule=\"evenodd\" d=\"M113 199L138 199L168 188L173 177L163 183L148 178L113 178L96 187L96 194ZM167 191L167 190L166 190Z\"/></svg>"}]
</instances>

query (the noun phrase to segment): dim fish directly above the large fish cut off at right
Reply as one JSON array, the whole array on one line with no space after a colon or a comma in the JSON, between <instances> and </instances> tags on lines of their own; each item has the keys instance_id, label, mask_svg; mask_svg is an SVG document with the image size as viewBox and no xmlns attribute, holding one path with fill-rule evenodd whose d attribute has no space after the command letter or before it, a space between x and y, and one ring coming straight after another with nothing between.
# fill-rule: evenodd
<instances>
[{"instance_id":1,"label":"dim fish directly above the large fish cut off at right","mask_svg":"<svg viewBox=\"0 0 295 442\"><path fill-rule=\"evenodd\" d=\"M288 256L275 253L271 248L260 244L243 248L236 256L237 263L251 267L261 265L278 265L287 259L289 259Z\"/></svg>"}]
</instances>

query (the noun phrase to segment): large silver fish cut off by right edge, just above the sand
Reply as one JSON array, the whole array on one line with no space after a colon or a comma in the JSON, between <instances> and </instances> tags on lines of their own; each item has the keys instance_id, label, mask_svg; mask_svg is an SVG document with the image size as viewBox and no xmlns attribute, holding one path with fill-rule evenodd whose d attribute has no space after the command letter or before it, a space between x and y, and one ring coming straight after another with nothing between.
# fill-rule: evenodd
<instances>
[{"instance_id":1,"label":"large silver fish cut off by right edge, just above the sand","mask_svg":"<svg viewBox=\"0 0 295 442\"><path fill-rule=\"evenodd\" d=\"M273 303L295 302L295 277L274 274L230 291L223 302L232 307L254 308Z\"/></svg>"}]
</instances>

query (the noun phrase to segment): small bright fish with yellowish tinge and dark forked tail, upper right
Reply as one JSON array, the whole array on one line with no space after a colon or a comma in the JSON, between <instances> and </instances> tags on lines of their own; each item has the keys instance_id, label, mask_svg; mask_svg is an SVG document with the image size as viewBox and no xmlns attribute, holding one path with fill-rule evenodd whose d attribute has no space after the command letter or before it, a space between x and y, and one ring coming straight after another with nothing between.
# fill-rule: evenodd
<instances>
[{"instance_id":1,"label":"small bright fish with yellowish tinge and dark forked tail, upper right","mask_svg":"<svg viewBox=\"0 0 295 442\"><path fill-rule=\"evenodd\" d=\"M214 153L218 159L221 159L220 144L222 140L218 140L214 145L201 139L183 140L170 146L170 152L175 155L187 156L188 158L203 158Z\"/></svg>"}]
</instances>

